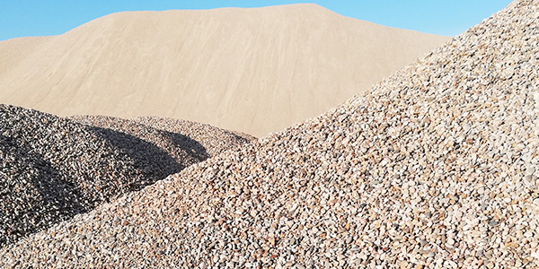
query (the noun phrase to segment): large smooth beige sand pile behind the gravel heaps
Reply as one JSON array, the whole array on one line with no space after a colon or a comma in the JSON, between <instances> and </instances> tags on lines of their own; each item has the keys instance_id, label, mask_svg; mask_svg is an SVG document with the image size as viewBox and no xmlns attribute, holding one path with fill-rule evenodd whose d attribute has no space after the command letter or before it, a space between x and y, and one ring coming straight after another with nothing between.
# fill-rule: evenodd
<instances>
[{"instance_id":1,"label":"large smooth beige sand pile behind the gravel heaps","mask_svg":"<svg viewBox=\"0 0 539 269\"><path fill-rule=\"evenodd\" d=\"M0 100L262 136L367 91L448 39L315 4L113 13L60 36L0 42Z\"/></svg>"}]
</instances>

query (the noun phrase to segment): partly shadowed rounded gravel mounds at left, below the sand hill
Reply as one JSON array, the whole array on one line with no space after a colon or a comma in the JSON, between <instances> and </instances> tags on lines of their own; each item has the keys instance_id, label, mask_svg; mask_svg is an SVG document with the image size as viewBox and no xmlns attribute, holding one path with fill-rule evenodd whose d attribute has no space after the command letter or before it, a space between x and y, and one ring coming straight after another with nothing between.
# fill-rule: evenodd
<instances>
[{"instance_id":1,"label":"partly shadowed rounded gravel mounds at left, below the sand hill","mask_svg":"<svg viewBox=\"0 0 539 269\"><path fill-rule=\"evenodd\" d=\"M216 127L178 124L190 132L0 105L0 246L249 141ZM204 136L199 143L203 132L216 142Z\"/></svg>"}]
</instances>

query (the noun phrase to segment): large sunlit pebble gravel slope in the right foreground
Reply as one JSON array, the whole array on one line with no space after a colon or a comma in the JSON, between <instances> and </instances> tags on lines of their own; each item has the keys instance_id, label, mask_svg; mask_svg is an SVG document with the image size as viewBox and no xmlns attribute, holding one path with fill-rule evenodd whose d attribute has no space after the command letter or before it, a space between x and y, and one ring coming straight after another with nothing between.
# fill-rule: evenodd
<instances>
[{"instance_id":1,"label":"large sunlit pebble gravel slope in the right foreground","mask_svg":"<svg viewBox=\"0 0 539 269\"><path fill-rule=\"evenodd\" d=\"M537 268L539 3L321 117L0 251L0 265Z\"/></svg>"}]
</instances>

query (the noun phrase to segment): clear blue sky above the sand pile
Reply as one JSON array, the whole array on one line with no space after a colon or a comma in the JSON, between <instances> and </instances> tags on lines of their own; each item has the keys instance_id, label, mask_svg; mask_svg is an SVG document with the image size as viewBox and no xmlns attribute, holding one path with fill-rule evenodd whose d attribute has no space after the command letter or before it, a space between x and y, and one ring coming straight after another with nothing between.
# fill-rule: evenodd
<instances>
[{"instance_id":1,"label":"clear blue sky above the sand pile","mask_svg":"<svg viewBox=\"0 0 539 269\"><path fill-rule=\"evenodd\" d=\"M511 0L0 0L0 40L57 35L109 13L315 3L345 16L455 36Z\"/></svg>"}]
</instances>

